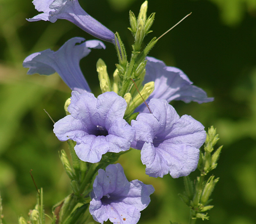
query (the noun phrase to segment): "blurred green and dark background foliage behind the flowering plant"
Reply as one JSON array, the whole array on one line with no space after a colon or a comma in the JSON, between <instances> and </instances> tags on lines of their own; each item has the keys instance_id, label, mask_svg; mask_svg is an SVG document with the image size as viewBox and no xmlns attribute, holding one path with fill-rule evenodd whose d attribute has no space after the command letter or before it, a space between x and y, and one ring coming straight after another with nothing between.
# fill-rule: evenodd
<instances>
[{"instance_id":1,"label":"blurred green and dark background foliage behind the flowering plant","mask_svg":"<svg viewBox=\"0 0 256 224\"><path fill-rule=\"evenodd\" d=\"M127 52L131 50L129 10L136 15L143 0L80 0L86 12L112 31L118 31ZM256 223L256 1L255 0L148 0L148 14L156 12L153 33L160 36L189 12L178 27L165 35L149 53L167 65L182 69L203 88L211 103L172 102L179 115L188 114L217 128L224 145L219 165L212 173L220 177L212 198L215 207L208 224ZM58 151L67 149L52 132L52 121L65 116L63 105L69 88L57 74L28 76L24 58L48 48L57 50L69 38L93 39L66 20L55 23L28 22L38 12L31 1L0 0L0 191L6 223L17 223L36 203L37 187L44 188L48 214L53 204L71 192ZM81 60L92 91L99 94L96 61L102 58L112 74L117 63L112 44L93 50ZM156 192L141 212L141 224L188 223L189 210L177 196L183 179L149 178L133 150L119 161L128 180L152 184ZM196 177L198 173L192 173ZM49 220L47 220L49 221ZM198 220L197 223L203 223Z\"/></svg>"}]
</instances>

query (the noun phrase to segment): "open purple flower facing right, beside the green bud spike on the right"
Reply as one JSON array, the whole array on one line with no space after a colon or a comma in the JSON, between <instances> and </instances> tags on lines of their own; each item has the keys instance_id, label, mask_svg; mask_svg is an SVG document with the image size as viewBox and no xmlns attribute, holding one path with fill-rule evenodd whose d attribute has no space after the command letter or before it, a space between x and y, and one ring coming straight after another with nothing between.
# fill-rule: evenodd
<instances>
[{"instance_id":1,"label":"open purple flower facing right, beside the green bud spike on the right","mask_svg":"<svg viewBox=\"0 0 256 224\"><path fill-rule=\"evenodd\" d=\"M141 149L146 174L187 176L197 167L199 148L206 139L204 126L191 116L180 117L166 100L151 99L148 106L152 114L141 113L132 120L135 140L131 144Z\"/></svg>"}]
</instances>

